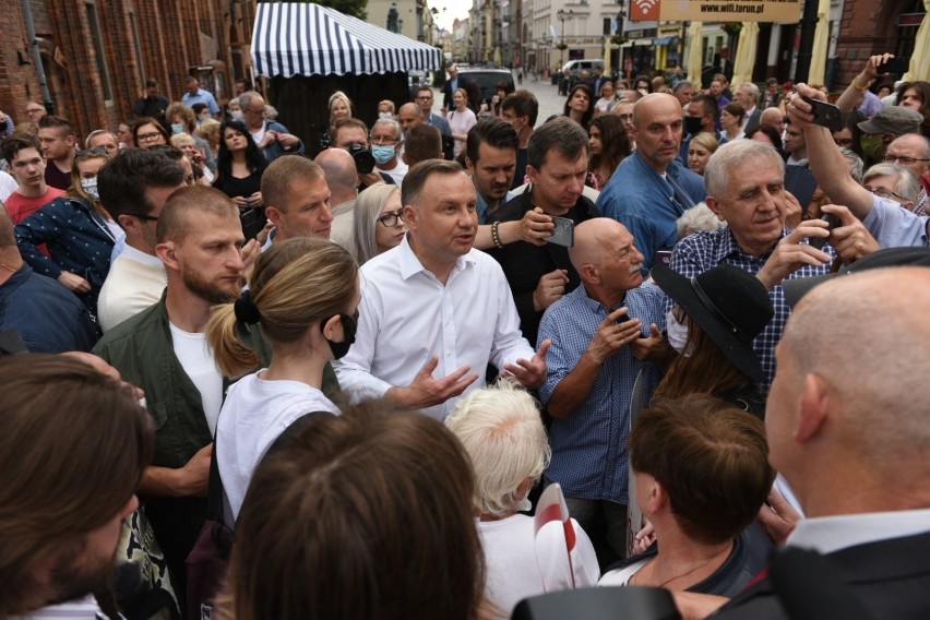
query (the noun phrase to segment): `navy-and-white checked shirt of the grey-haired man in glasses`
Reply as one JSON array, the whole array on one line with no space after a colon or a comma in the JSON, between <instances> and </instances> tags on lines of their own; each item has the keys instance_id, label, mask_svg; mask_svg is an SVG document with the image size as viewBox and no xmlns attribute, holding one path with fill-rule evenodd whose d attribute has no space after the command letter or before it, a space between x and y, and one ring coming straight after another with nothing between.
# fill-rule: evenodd
<instances>
[{"instance_id":1,"label":"navy-and-white checked shirt of the grey-haired man in glasses","mask_svg":"<svg viewBox=\"0 0 930 620\"><path fill-rule=\"evenodd\" d=\"M782 230L779 241L790 231L790 228ZM773 245L772 248L774 250L775 246ZM824 246L823 251L830 254L831 259L836 258L836 251L831 246ZM679 241L671 252L669 267L685 277L694 277L723 263L758 274L771 255L771 250L761 257L753 257L744 252L737 243L729 226L725 226L712 233L695 233ZM828 272L830 264L807 265L789 275L788 278L822 275ZM772 298L772 305L775 307L775 315L752 343L755 355L759 356L759 361L762 363L763 379L760 383L760 390L763 396L768 394L768 389L772 386L772 379L775 377L775 346L782 339L785 322L791 312L785 301L785 291L780 284L768 291L768 297ZM667 303L667 308L670 307L671 301Z\"/></svg>"}]
</instances>

